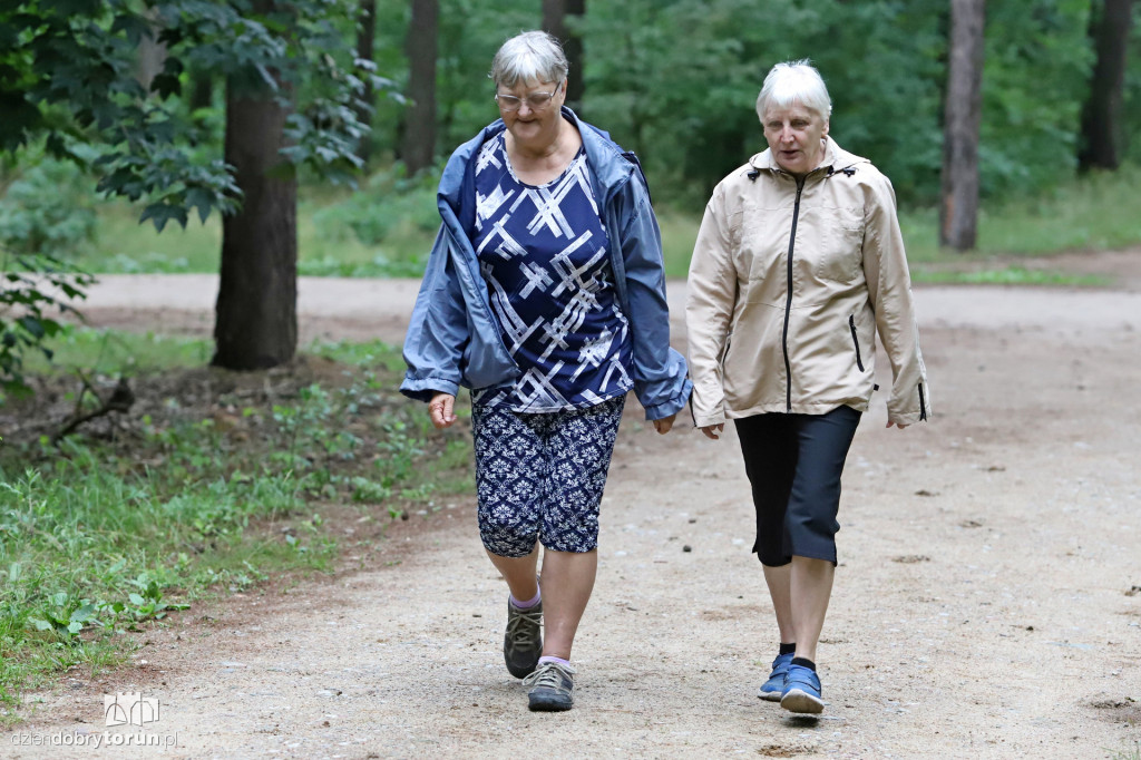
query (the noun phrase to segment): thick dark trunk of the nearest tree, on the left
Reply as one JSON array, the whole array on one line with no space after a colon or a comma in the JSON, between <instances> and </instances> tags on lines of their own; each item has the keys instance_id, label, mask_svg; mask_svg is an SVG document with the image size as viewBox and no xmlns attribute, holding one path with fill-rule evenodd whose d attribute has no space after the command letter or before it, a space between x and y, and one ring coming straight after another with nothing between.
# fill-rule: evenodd
<instances>
[{"instance_id":1,"label":"thick dark trunk of the nearest tree, on the left","mask_svg":"<svg viewBox=\"0 0 1141 760\"><path fill-rule=\"evenodd\" d=\"M226 163L243 193L221 228L213 364L228 370L277 366L297 350L297 179L280 154L289 111L268 90L227 86Z\"/></svg>"}]
</instances>

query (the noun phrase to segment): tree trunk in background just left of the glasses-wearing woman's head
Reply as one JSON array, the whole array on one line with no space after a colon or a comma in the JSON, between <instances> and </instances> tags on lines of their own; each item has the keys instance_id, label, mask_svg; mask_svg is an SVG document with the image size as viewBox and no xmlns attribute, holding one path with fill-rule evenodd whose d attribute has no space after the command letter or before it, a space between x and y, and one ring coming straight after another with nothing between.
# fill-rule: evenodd
<instances>
[{"instance_id":1,"label":"tree trunk in background just left of the glasses-wearing woman's head","mask_svg":"<svg viewBox=\"0 0 1141 760\"><path fill-rule=\"evenodd\" d=\"M408 25L408 100L404 116L400 157L408 176L431 167L436 157L436 37L437 0L412 0Z\"/></svg>"}]
</instances>

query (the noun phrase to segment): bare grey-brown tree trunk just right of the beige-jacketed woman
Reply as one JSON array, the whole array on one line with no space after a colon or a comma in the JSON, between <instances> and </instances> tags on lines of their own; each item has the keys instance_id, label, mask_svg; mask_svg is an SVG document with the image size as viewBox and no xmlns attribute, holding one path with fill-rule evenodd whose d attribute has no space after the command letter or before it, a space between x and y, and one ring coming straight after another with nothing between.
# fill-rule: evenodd
<instances>
[{"instance_id":1,"label":"bare grey-brown tree trunk just right of the beige-jacketed woman","mask_svg":"<svg viewBox=\"0 0 1141 760\"><path fill-rule=\"evenodd\" d=\"M985 0L950 0L939 244L974 248L979 217Z\"/></svg>"}]
</instances>

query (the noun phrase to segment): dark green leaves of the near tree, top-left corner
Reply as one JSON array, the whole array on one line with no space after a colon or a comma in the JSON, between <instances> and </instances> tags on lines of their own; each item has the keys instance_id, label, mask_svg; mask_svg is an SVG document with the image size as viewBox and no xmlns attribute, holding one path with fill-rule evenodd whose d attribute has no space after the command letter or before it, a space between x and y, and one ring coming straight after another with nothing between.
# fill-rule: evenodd
<instances>
[{"instance_id":1,"label":"dark green leaves of the near tree, top-left corner","mask_svg":"<svg viewBox=\"0 0 1141 760\"><path fill-rule=\"evenodd\" d=\"M0 151L39 136L48 153L90 167L98 189L147 200L143 219L162 229L237 208L233 169L194 148L202 123L179 107L185 72L225 78L238 95L274 97L291 113L283 167L307 165L348 180L363 128L353 106L365 80L343 46L356 3L300 0L259 14L242 0L19 2L0 10ZM162 71L144 86L137 48L164 48ZM78 146L95 146L88 161Z\"/></svg>"}]
</instances>

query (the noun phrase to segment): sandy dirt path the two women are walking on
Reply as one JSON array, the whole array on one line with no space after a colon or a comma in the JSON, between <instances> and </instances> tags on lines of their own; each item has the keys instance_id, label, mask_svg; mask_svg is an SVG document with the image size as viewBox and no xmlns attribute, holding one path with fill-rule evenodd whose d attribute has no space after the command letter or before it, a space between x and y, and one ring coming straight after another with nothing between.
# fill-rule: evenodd
<instances>
[{"instance_id":1,"label":"sandy dirt path the two women are walking on","mask_svg":"<svg viewBox=\"0 0 1141 760\"><path fill-rule=\"evenodd\" d=\"M204 282L124 280L138 298L97 290L89 310L138 324L146 293L160 326L209 326ZM302 332L391 339L413 296L306 281ZM572 712L527 712L503 669L505 590L460 499L361 572L148 633L136 666L42 695L0 757L1135 757L1141 289L916 297L936 419L887 430L881 397L857 434L822 719L755 697L776 632L736 439L658 437L631 405ZM108 690L159 700L141 733L177 746L95 750L140 734L105 727Z\"/></svg>"}]
</instances>

